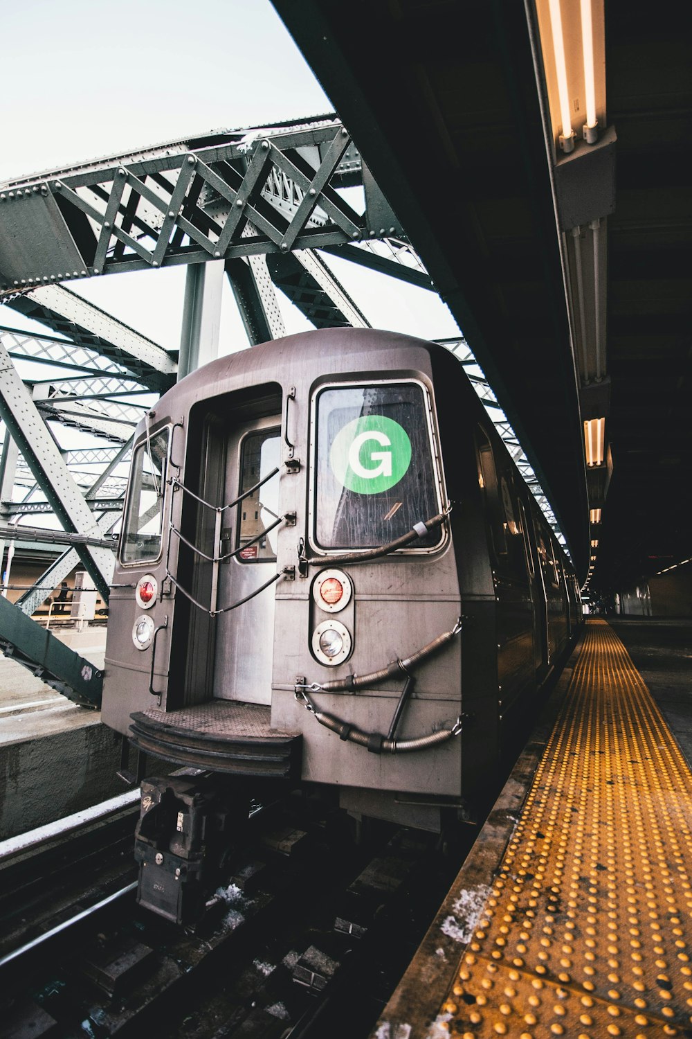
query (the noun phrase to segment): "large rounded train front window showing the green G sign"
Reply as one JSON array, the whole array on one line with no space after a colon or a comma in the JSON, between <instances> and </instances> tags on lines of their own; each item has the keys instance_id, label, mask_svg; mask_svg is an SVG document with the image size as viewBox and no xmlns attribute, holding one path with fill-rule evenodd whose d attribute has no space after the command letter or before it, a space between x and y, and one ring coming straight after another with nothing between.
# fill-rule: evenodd
<instances>
[{"instance_id":1,"label":"large rounded train front window showing the green G sign","mask_svg":"<svg viewBox=\"0 0 692 1039\"><path fill-rule=\"evenodd\" d=\"M440 511L430 407L421 385L323 390L316 402L314 537L322 549L369 549ZM415 542L435 548L434 529Z\"/></svg>"}]
</instances>

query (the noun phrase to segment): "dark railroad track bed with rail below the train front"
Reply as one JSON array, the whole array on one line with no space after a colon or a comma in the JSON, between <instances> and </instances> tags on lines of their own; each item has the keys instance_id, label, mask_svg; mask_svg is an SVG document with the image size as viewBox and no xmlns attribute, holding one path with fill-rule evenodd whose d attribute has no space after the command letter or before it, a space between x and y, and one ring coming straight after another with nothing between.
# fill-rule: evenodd
<instances>
[{"instance_id":1,"label":"dark railroad track bed with rail below the train front","mask_svg":"<svg viewBox=\"0 0 692 1039\"><path fill-rule=\"evenodd\" d=\"M195 928L137 906L134 806L4 863L0 1039L366 1035L459 862L392 827L356 845L306 803L253 816Z\"/></svg>"}]
</instances>

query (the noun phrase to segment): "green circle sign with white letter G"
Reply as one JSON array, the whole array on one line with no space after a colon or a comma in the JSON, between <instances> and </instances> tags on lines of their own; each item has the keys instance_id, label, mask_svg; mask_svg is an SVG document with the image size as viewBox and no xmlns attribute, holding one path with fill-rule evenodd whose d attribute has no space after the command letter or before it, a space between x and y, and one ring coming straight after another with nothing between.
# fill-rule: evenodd
<instances>
[{"instance_id":1,"label":"green circle sign with white letter G","mask_svg":"<svg viewBox=\"0 0 692 1039\"><path fill-rule=\"evenodd\" d=\"M397 484L411 464L411 441L393 419L366 415L338 431L329 464L348 490L379 495Z\"/></svg>"}]
</instances>

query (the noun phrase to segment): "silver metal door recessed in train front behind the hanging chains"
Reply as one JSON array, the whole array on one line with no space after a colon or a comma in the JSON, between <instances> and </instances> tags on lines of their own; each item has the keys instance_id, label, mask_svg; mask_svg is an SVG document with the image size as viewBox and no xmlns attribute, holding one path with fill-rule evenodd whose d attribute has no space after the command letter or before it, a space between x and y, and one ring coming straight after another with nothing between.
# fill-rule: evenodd
<instances>
[{"instance_id":1,"label":"silver metal door recessed in train front behind the hanging chains","mask_svg":"<svg viewBox=\"0 0 692 1039\"><path fill-rule=\"evenodd\" d=\"M276 572L277 528L270 528L279 515L279 475L271 474L280 465L280 416L233 429L226 459L225 501L246 497L223 513L214 696L271 703L274 588L252 593Z\"/></svg>"}]
</instances>

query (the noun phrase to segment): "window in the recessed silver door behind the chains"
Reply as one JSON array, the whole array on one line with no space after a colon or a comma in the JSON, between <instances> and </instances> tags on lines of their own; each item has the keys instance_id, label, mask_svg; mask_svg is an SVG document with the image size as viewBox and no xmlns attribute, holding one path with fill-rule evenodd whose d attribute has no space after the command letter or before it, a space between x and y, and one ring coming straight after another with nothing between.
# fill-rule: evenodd
<instances>
[{"instance_id":1,"label":"window in the recessed silver door behind the chains","mask_svg":"<svg viewBox=\"0 0 692 1039\"><path fill-rule=\"evenodd\" d=\"M278 429L261 429L249 433L241 445L240 494L249 490L273 469L280 465ZM238 506L238 558L243 563L266 563L276 559L277 529L268 527L278 518L279 474L262 483ZM252 541L252 544L248 544Z\"/></svg>"}]
</instances>

